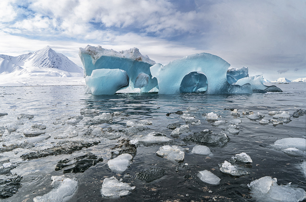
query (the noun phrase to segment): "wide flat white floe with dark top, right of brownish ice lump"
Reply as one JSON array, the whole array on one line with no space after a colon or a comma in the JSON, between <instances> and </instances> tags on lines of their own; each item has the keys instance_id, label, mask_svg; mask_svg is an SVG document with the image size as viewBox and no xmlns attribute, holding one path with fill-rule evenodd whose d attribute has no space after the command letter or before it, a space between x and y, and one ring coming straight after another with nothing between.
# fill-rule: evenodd
<instances>
[{"instance_id":1,"label":"wide flat white floe with dark top, right of brownish ice lump","mask_svg":"<svg viewBox=\"0 0 306 202\"><path fill-rule=\"evenodd\" d=\"M163 145L169 142L171 139L166 137L166 134L159 132L152 132L143 137L137 139L139 143L144 146L152 146L152 145Z\"/></svg>"}]
</instances>

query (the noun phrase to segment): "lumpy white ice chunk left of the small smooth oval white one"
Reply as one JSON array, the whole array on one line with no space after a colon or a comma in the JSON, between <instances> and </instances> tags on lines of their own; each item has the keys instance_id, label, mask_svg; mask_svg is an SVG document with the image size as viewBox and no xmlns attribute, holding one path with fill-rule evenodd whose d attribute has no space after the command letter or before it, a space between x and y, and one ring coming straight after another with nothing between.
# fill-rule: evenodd
<instances>
[{"instance_id":1,"label":"lumpy white ice chunk left of the small smooth oval white one","mask_svg":"<svg viewBox=\"0 0 306 202\"><path fill-rule=\"evenodd\" d=\"M166 158L170 161L180 162L184 160L184 151L185 149L181 148L180 146L174 145L171 147L169 145L165 145L159 148L159 151L156 152L156 155L162 158Z\"/></svg>"}]
</instances>

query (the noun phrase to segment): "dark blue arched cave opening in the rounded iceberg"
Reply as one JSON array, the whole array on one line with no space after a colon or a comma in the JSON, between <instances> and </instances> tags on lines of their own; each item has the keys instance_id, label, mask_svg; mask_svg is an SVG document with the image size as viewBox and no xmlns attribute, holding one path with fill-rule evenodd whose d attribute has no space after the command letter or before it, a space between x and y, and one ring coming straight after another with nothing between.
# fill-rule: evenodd
<instances>
[{"instance_id":1,"label":"dark blue arched cave opening in the rounded iceberg","mask_svg":"<svg viewBox=\"0 0 306 202\"><path fill-rule=\"evenodd\" d=\"M196 91L207 90L207 77L201 72L191 72L187 74L180 86L181 93L191 93Z\"/></svg>"}]
</instances>

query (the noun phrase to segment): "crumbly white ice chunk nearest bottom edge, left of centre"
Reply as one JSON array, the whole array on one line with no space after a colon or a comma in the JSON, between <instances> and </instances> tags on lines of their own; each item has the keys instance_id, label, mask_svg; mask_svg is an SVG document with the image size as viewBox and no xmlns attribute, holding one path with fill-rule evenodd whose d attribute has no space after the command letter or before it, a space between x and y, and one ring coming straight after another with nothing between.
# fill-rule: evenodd
<instances>
[{"instance_id":1,"label":"crumbly white ice chunk nearest bottom edge, left of centre","mask_svg":"<svg viewBox=\"0 0 306 202\"><path fill-rule=\"evenodd\" d=\"M131 186L121 181L117 180L114 176L104 178L101 189L102 196L106 198L122 198L135 190L135 186Z\"/></svg>"}]
</instances>

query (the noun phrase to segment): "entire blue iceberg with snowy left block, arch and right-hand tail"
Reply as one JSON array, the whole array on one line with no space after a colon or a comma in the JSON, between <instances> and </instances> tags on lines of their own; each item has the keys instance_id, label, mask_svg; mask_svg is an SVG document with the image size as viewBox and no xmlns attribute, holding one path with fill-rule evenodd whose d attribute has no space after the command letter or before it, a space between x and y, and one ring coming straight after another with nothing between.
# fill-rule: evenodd
<instances>
[{"instance_id":1,"label":"entire blue iceberg with snowy left block, arch and right-hand tail","mask_svg":"<svg viewBox=\"0 0 306 202\"><path fill-rule=\"evenodd\" d=\"M262 76L248 77L248 68L230 68L222 58L199 53L174 60L167 65L155 63L137 48L124 51L101 46L80 48L84 66L85 92L114 94L120 89L159 94L203 91L206 94L281 92L276 86L263 85Z\"/></svg>"}]
</instances>

